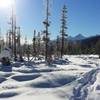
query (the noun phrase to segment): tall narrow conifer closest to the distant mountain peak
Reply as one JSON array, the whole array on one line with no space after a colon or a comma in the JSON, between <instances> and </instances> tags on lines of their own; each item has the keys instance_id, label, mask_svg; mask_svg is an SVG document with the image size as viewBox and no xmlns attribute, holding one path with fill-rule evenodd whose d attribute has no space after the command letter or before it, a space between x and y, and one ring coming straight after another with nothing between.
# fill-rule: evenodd
<instances>
[{"instance_id":1,"label":"tall narrow conifer closest to the distant mountain peak","mask_svg":"<svg viewBox=\"0 0 100 100\"><path fill-rule=\"evenodd\" d=\"M67 36L66 34L66 29L67 29L67 21L66 21L66 18L67 18L67 7L66 5L63 6L63 9L62 9L62 18L61 18L61 58L63 57L64 55L64 44L65 44L65 36Z\"/></svg>"}]
</instances>

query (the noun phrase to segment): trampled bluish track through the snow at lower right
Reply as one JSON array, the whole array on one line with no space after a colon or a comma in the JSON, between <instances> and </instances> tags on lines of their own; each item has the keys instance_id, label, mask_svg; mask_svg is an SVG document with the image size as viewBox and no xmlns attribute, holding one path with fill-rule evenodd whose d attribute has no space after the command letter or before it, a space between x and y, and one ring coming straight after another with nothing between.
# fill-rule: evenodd
<instances>
[{"instance_id":1,"label":"trampled bluish track through the snow at lower right","mask_svg":"<svg viewBox=\"0 0 100 100\"><path fill-rule=\"evenodd\" d=\"M79 85L74 88L73 96L70 100L86 100L88 95L88 87L96 81L96 75L100 71L99 68L93 69L86 73L83 78L79 79Z\"/></svg>"}]
</instances>

